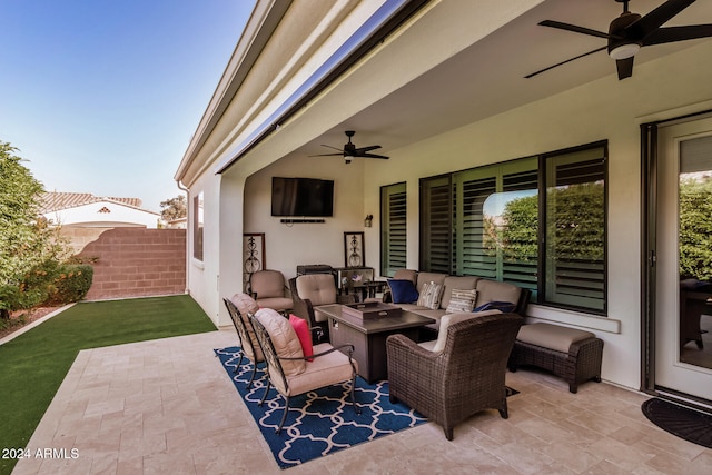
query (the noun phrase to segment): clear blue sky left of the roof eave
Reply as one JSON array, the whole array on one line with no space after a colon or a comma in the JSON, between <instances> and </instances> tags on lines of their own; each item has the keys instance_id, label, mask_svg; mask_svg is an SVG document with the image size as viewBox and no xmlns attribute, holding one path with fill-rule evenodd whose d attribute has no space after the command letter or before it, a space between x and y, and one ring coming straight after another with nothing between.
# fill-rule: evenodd
<instances>
[{"instance_id":1,"label":"clear blue sky left of the roof eave","mask_svg":"<svg viewBox=\"0 0 712 475\"><path fill-rule=\"evenodd\" d=\"M254 3L0 0L0 141L49 191L159 211Z\"/></svg>"}]
</instances>

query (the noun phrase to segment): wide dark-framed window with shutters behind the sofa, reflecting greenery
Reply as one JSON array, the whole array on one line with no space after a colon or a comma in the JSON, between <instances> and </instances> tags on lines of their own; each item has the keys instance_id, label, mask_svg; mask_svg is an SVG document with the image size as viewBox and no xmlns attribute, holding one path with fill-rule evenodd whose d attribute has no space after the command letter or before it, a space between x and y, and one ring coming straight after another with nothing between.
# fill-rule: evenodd
<instances>
[{"instance_id":1,"label":"wide dark-framed window with shutters behind the sofa, reflecting greenery","mask_svg":"<svg viewBox=\"0 0 712 475\"><path fill-rule=\"evenodd\" d=\"M606 144L421 180L421 270L605 313Z\"/></svg>"}]
</instances>

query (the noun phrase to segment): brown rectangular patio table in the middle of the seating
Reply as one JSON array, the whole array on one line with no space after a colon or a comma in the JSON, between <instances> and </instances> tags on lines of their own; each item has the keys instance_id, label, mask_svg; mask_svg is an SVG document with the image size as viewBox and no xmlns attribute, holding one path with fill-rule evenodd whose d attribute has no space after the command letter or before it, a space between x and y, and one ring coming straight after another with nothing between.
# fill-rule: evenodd
<instances>
[{"instance_id":1,"label":"brown rectangular patio table in the middle of the seating","mask_svg":"<svg viewBox=\"0 0 712 475\"><path fill-rule=\"evenodd\" d=\"M403 334L416 340L421 327L433 324L433 318L405 311L398 317L362 320L342 313L340 305L318 307L329 318L330 343L334 346L354 345L354 359L358 362L358 374L368 383L387 379L386 338Z\"/></svg>"}]
</instances>

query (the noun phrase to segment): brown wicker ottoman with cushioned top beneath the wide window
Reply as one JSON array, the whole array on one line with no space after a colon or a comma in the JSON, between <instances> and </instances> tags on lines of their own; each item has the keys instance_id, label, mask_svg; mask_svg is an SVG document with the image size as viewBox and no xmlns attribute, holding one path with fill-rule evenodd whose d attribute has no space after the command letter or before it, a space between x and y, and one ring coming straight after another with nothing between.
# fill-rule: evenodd
<instances>
[{"instance_id":1,"label":"brown wicker ottoman with cushioned top beneath the wide window","mask_svg":"<svg viewBox=\"0 0 712 475\"><path fill-rule=\"evenodd\" d=\"M507 367L536 366L563 377L568 390L576 393L578 383L601 383L603 340L591 331L551 324L524 325L514 342Z\"/></svg>"}]
</instances>

